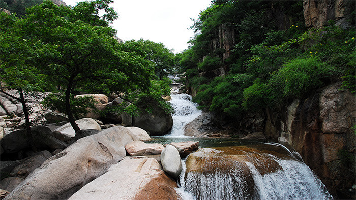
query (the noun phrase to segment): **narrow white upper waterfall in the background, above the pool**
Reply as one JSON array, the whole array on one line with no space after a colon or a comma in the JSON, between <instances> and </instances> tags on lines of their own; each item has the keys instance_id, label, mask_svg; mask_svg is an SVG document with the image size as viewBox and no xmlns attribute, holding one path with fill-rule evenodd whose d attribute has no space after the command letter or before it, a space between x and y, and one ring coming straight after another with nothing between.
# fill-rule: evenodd
<instances>
[{"instance_id":1,"label":"narrow white upper waterfall in the background, above the pool","mask_svg":"<svg viewBox=\"0 0 356 200\"><path fill-rule=\"evenodd\" d=\"M165 137L187 137L184 136L184 126L193 121L199 115L201 111L197 109L197 104L193 103L192 97L188 94L171 94L171 100L174 113L173 127L169 135Z\"/></svg>"}]
</instances>

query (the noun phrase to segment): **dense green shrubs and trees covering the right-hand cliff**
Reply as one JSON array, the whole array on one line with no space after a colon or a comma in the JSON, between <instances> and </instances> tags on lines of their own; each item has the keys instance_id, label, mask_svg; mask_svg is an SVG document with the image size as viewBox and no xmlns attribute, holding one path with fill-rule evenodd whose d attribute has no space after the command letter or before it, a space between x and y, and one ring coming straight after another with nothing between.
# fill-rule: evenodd
<instances>
[{"instance_id":1,"label":"dense green shrubs and trees covering the right-hand cliff","mask_svg":"<svg viewBox=\"0 0 356 200\"><path fill-rule=\"evenodd\" d=\"M239 117L305 98L331 82L343 81L354 93L354 27L340 29L330 21L306 30L304 24L303 1L213 1L194 21L196 35L180 55L194 101ZM230 52L215 45L228 39L221 29L232 32Z\"/></svg>"}]
</instances>

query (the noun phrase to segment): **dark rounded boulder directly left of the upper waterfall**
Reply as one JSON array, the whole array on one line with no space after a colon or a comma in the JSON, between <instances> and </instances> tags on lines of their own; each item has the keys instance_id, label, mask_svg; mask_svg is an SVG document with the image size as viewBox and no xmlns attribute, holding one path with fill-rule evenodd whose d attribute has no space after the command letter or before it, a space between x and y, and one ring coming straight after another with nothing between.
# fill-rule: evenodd
<instances>
[{"instance_id":1,"label":"dark rounded boulder directly left of the upper waterfall","mask_svg":"<svg viewBox=\"0 0 356 200\"><path fill-rule=\"evenodd\" d=\"M141 110L141 114L135 117L134 125L148 131L151 136L162 136L172 128L172 115L160 108L159 105L153 100L140 102L139 108ZM148 112L147 109L151 112Z\"/></svg>"}]
</instances>

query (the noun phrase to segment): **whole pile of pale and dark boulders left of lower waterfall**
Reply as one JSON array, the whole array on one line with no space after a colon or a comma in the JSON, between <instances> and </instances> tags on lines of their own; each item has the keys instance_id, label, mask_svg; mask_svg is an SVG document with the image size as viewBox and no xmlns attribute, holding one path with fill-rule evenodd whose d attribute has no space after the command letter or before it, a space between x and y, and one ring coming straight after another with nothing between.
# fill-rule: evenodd
<instances>
[{"instance_id":1,"label":"whole pile of pale and dark boulders left of lower waterfall","mask_svg":"<svg viewBox=\"0 0 356 200\"><path fill-rule=\"evenodd\" d=\"M47 134L67 144L58 139L73 139L65 127L53 132L47 127L37 127L36 131L41 136ZM194 151L198 148L198 142L172 143L180 147L177 149L172 145L164 147L142 142L150 139L150 136L138 127L114 126L97 131L63 147L64 150L53 150L55 148L51 147L50 151L32 154L27 150L28 147L18 146L17 150L6 145L4 147L4 139L8 143L11 137L21 138L18 132L7 135L2 139L2 154L21 149L17 154L22 152L29 154L29 157L0 162L2 176L10 176L0 182L0 195L7 195L6 199L22 199L24 196L36 199L82 199L84 196L115 199L180 198L174 189L177 187L175 180L182 170L179 150L184 154ZM44 144L38 147L44 148ZM157 192L147 192L152 189Z\"/></svg>"}]
</instances>

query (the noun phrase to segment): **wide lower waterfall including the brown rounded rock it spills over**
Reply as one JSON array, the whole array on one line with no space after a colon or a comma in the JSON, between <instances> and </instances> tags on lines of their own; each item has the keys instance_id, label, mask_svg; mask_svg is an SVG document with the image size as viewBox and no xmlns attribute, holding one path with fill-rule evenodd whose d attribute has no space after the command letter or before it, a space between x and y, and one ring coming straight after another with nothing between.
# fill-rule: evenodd
<instances>
[{"instance_id":1,"label":"wide lower waterfall including the brown rounded rock it spills over","mask_svg":"<svg viewBox=\"0 0 356 200\"><path fill-rule=\"evenodd\" d=\"M300 160L246 146L231 148L237 154L227 149L202 148L188 157L177 189L182 198L332 199Z\"/></svg>"}]
</instances>

